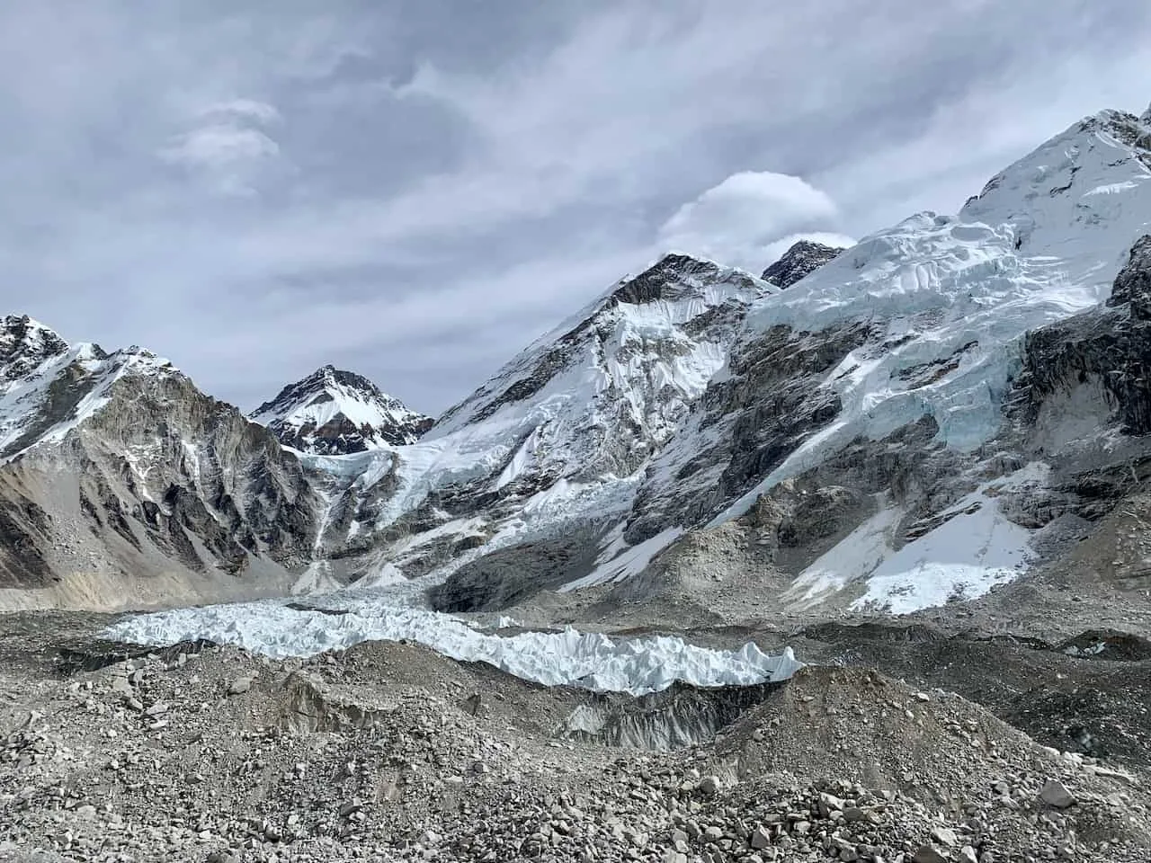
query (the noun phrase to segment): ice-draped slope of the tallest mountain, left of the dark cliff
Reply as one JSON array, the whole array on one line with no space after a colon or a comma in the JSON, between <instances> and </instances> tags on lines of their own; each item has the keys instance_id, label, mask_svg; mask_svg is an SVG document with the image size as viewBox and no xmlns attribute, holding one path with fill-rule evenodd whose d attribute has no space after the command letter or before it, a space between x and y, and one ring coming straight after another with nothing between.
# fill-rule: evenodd
<instances>
[{"instance_id":1,"label":"ice-draped slope of the tallest mountain, left of the dark cliff","mask_svg":"<svg viewBox=\"0 0 1151 863\"><path fill-rule=\"evenodd\" d=\"M685 530L734 519L750 543L745 572L794 580L792 602L895 610L978 595L1042 563L1037 532L1060 511L1049 504L1078 492L1050 490L1060 480L1036 449L1043 429L1005 414L1028 334L1098 308L1149 230L1151 114L1104 112L993 177L958 216L914 216L767 297L729 373L654 460L617 550L647 543L650 559ZM1097 448L1113 434L1108 398L1066 407ZM655 568L681 578L679 556Z\"/></svg>"}]
</instances>

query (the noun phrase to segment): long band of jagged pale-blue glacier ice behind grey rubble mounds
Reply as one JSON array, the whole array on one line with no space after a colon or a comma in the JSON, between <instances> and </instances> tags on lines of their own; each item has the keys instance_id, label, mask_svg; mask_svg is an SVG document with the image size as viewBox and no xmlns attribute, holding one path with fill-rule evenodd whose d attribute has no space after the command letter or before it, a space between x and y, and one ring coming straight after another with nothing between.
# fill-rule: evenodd
<instances>
[{"instance_id":1,"label":"long band of jagged pale-blue glacier ice behind grey rubble mounds","mask_svg":"<svg viewBox=\"0 0 1151 863\"><path fill-rule=\"evenodd\" d=\"M341 613L326 613L334 610L331 603L338 603ZM177 609L130 618L102 635L147 646L206 639L275 658L314 656L363 641L407 640L546 686L633 695L665 689L677 680L706 687L786 680L802 667L791 648L769 656L750 642L740 650L712 650L664 635L611 639L572 628L501 636L449 614L397 606L386 594L327 597L326 604L317 599L315 608L303 610L285 601Z\"/></svg>"}]
</instances>

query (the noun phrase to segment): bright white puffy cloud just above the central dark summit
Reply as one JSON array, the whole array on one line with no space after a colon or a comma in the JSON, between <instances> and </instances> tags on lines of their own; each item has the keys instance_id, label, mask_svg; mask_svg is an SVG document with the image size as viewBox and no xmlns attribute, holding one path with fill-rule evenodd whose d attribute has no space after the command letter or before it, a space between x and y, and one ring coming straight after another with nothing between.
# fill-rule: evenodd
<instances>
[{"instance_id":1,"label":"bright white puffy cloud just above the central dark summit","mask_svg":"<svg viewBox=\"0 0 1151 863\"><path fill-rule=\"evenodd\" d=\"M759 272L773 242L833 227L834 201L800 177L740 171L683 205L660 229L660 244Z\"/></svg>"}]
</instances>

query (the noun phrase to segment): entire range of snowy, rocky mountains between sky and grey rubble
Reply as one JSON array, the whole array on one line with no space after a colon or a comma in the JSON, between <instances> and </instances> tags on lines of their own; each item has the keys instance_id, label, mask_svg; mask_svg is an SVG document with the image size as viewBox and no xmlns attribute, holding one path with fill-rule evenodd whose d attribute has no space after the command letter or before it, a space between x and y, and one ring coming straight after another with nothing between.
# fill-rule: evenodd
<instances>
[{"instance_id":1,"label":"entire range of snowy, rocky mountains between sky and grey rubble","mask_svg":"<svg viewBox=\"0 0 1151 863\"><path fill-rule=\"evenodd\" d=\"M330 367L262 405L264 428L138 349L7 319L3 578L136 567L200 595L427 576L447 610L595 587L677 620L748 591L897 612L980 596L1142 518L1149 235L1151 113L1103 112L954 216L796 244L762 280L669 255L430 428ZM1081 568L1142 583L1129 533Z\"/></svg>"}]
</instances>

